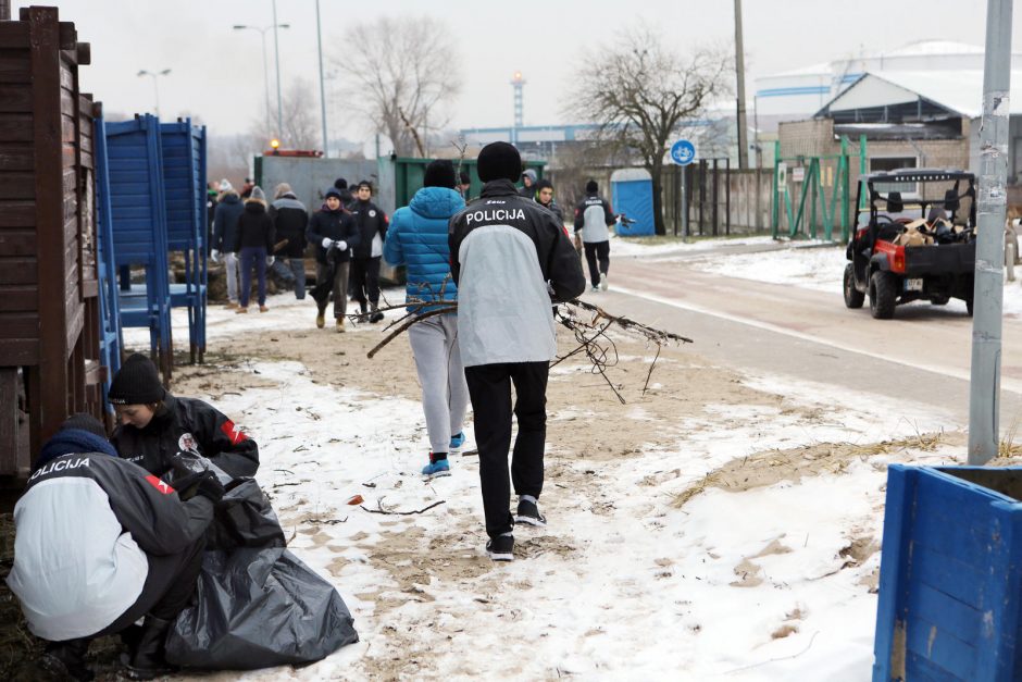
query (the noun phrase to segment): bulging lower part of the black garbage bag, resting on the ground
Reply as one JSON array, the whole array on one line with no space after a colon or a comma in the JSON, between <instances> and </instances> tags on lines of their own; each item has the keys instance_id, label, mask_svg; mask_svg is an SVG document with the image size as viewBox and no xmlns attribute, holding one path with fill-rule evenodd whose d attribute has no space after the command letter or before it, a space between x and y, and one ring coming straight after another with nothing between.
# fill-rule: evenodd
<instances>
[{"instance_id":1,"label":"bulging lower part of the black garbage bag, resting on the ground","mask_svg":"<svg viewBox=\"0 0 1022 682\"><path fill-rule=\"evenodd\" d=\"M358 642L353 622L337 591L283 547L207 551L166 659L207 670L310 664Z\"/></svg>"}]
</instances>

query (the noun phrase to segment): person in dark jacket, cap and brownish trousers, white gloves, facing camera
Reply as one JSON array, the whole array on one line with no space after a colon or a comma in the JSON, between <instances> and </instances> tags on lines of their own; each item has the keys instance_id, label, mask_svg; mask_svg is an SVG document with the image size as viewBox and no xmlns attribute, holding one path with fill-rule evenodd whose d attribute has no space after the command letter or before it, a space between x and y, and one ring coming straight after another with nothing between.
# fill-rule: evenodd
<instances>
[{"instance_id":1,"label":"person in dark jacket, cap and brownish trousers, white gloves, facing camera","mask_svg":"<svg viewBox=\"0 0 1022 682\"><path fill-rule=\"evenodd\" d=\"M340 190L331 187L326 190L326 203L309 219L306 230L309 241L315 245L316 288L324 287L329 281L334 296L334 319L338 332L345 331L345 311L348 297L348 264L351 249L359 245L361 235L351 214L341 203ZM326 324L326 303L328 295L316 300L315 325L323 328Z\"/></svg>"}]
</instances>

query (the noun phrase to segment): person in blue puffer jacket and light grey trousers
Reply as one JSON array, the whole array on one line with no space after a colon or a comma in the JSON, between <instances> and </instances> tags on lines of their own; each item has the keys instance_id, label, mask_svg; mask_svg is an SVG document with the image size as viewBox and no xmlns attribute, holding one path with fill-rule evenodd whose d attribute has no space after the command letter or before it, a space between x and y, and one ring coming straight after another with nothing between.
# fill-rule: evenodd
<instances>
[{"instance_id":1,"label":"person in blue puffer jacket and light grey trousers","mask_svg":"<svg viewBox=\"0 0 1022 682\"><path fill-rule=\"evenodd\" d=\"M436 310L441 301L458 300L447 245L448 222L465 206L456 185L453 164L447 159L433 161L426 166L422 189L390 221L383 256L391 265L408 266L406 302L412 314ZM409 327L408 339L422 384L429 434L429 463L422 472L431 478L450 475L447 456L464 444L462 426L469 407L458 318L451 313L420 320Z\"/></svg>"}]
</instances>

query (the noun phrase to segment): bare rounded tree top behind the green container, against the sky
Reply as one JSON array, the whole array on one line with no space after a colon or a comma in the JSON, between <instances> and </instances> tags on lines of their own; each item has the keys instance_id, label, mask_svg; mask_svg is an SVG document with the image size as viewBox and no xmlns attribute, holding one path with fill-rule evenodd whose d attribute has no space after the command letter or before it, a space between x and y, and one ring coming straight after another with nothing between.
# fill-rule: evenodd
<instances>
[{"instance_id":1,"label":"bare rounded tree top behind the green container, against the sky","mask_svg":"<svg viewBox=\"0 0 1022 682\"><path fill-rule=\"evenodd\" d=\"M423 140L449 121L460 91L454 39L440 21L382 16L345 32L335 59L346 74L345 106L360 110L399 157L425 156Z\"/></svg>"}]
</instances>

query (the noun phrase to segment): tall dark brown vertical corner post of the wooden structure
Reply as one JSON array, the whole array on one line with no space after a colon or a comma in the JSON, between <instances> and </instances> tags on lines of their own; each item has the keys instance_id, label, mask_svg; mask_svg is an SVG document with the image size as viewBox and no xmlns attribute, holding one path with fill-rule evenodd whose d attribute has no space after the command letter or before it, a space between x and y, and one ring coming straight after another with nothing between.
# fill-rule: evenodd
<instances>
[{"instance_id":1,"label":"tall dark brown vertical corner post of the wooden structure","mask_svg":"<svg viewBox=\"0 0 1022 682\"><path fill-rule=\"evenodd\" d=\"M59 198L62 195L62 149L60 87L62 64L57 10L28 8L30 52L33 69L33 144L35 147L36 196ZM66 396L71 390L67 372L67 320L64 318L64 278L52 276L54 269L62 272L63 201L40 201L36 207L39 231L39 323L43 330L39 340L39 386L46 390L38 396L39 411L33 413L38 422L39 438L49 438L66 417ZM58 256L60 255L60 256ZM54 258L55 257L55 258ZM47 276L49 274L49 276Z\"/></svg>"}]
</instances>

